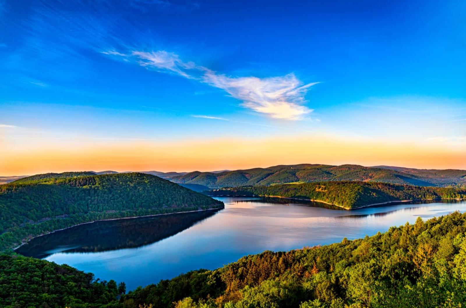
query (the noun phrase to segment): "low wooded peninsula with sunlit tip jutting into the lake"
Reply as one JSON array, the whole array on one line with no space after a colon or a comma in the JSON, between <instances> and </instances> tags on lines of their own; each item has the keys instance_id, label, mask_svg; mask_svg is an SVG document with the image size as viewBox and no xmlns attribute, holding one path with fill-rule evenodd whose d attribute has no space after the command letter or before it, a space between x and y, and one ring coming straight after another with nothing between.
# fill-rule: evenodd
<instances>
[{"instance_id":1,"label":"low wooded peninsula with sunlit tip jutting into the lake","mask_svg":"<svg viewBox=\"0 0 466 308\"><path fill-rule=\"evenodd\" d=\"M214 189L211 195L280 196L322 201L352 209L377 203L419 199L464 199L466 188L419 187L378 182L315 182Z\"/></svg>"}]
</instances>

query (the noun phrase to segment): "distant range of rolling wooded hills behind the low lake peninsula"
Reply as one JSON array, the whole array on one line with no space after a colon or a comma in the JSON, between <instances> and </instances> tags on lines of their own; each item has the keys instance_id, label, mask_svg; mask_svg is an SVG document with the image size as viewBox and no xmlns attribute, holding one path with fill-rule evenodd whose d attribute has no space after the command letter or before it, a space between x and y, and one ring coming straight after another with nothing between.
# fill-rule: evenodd
<instances>
[{"instance_id":1,"label":"distant range of rolling wooded hills behind the low lake peninsula","mask_svg":"<svg viewBox=\"0 0 466 308\"><path fill-rule=\"evenodd\" d=\"M466 170L405 169L401 171L384 166L300 164L219 173L195 171L171 177L170 180L211 188L319 181L373 181L418 186L466 185Z\"/></svg>"}]
</instances>

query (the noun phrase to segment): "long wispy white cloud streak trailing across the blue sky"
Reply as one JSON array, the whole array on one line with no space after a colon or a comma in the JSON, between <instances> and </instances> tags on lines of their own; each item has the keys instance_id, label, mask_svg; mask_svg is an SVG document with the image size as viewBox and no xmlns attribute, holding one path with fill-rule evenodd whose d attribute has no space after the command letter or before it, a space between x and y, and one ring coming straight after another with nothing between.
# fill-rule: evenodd
<instances>
[{"instance_id":1,"label":"long wispy white cloud streak trailing across the blue sky","mask_svg":"<svg viewBox=\"0 0 466 308\"><path fill-rule=\"evenodd\" d=\"M128 54L110 50L102 53L133 61L146 68L209 84L241 100L242 107L274 119L303 120L313 111L305 106L305 95L317 82L304 84L295 74L268 78L230 77L217 74L194 62L185 62L177 54L164 50L131 51Z\"/></svg>"}]
</instances>

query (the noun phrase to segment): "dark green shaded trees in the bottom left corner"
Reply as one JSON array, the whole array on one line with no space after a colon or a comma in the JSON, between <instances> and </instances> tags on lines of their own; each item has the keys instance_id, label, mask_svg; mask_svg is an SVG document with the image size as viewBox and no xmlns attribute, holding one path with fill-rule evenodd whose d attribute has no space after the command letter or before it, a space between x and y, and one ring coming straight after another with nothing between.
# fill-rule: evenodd
<instances>
[{"instance_id":1,"label":"dark green shaded trees in the bottom left corner","mask_svg":"<svg viewBox=\"0 0 466 308\"><path fill-rule=\"evenodd\" d=\"M0 286L0 307L5 308L118 305L115 281L95 280L68 265L17 254L0 255Z\"/></svg>"}]
</instances>

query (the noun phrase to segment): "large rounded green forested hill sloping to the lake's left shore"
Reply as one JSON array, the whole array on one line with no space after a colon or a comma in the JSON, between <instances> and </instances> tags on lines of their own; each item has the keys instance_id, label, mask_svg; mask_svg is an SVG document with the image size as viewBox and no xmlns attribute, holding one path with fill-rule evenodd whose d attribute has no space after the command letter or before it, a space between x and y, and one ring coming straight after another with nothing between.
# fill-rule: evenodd
<instances>
[{"instance_id":1,"label":"large rounded green forested hill sloping to the lake's left shore","mask_svg":"<svg viewBox=\"0 0 466 308\"><path fill-rule=\"evenodd\" d=\"M0 185L0 251L83 222L209 208L223 203L150 174L15 181Z\"/></svg>"}]
</instances>

